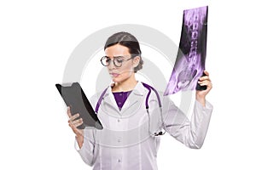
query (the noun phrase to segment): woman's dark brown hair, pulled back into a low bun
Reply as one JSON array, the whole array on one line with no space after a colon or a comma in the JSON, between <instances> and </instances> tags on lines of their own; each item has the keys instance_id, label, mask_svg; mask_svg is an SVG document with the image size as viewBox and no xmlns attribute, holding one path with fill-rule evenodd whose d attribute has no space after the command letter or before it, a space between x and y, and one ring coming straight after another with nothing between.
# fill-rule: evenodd
<instances>
[{"instance_id":1,"label":"woman's dark brown hair, pulled back into a low bun","mask_svg":"<svg viewBox=\"0 0 256 170\"><path fill-rule=\"evenodd\" d=\"M136 56L139 56L141 58L137 67L134 68L134 72L137 72L143 68L143 59L141 56L142 51L136 37L124 31L114 33L111 37L108 37L108 40L104 46L104 50L115 44L119 44L125 46L126 48L129 48L129 53L131 54L132 58Z\"/></svg>"}]
</instances>

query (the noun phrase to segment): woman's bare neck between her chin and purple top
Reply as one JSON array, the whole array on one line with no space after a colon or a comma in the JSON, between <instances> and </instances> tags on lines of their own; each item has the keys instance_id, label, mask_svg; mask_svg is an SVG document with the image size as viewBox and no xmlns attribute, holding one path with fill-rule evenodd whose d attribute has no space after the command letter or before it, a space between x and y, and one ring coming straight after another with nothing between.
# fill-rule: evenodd
<instances>
[{"instance_id":1,"label":"woman's bare neck between her chin and purple top","mask_svg":"<svg viewBox=\"0 0 256 170\"><path fill-rule=\"evenodd\" d=\"M114 82L112 92L128 92L132 91L137 85L137 80L135 79L135 74L126 79L123 82Z\"/></svg>"}]
</instances>

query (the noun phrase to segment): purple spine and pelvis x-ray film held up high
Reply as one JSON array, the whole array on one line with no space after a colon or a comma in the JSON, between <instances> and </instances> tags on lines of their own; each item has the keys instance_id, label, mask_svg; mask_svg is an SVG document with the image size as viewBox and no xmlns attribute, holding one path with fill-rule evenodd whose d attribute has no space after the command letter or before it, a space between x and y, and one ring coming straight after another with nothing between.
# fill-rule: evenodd
<instances>
[{"instance_id":1,"label":"purple spine and pelvis x-ray film held up high","mask_svg":"<svg viewBox=\"0 0 256 170\"><path fill-rule=\"evenodd\" d=\"M164 95L200 88L197 82L205 70L207 54L207 12L207 6L183 11L177 59Z\"/></svg>"}]
</instances>

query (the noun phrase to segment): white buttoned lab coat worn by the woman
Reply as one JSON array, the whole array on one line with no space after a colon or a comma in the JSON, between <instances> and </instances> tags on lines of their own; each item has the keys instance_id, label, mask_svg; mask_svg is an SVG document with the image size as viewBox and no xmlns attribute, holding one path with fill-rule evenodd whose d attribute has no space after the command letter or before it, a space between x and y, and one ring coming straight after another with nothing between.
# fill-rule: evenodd
<instances>
[{"instance_id":1,"label":"white buttoned lab coat worn by the woman","mask_svg":"<svg viewBox=\"0 0 256 170\"><path fill-rule=\"evenodd\" d=\"M79 149L76 143L76 149L86 164L96 170L156 170L160 136L151 134L160 132L162 128L189 148L201 148L207 134L212 105L207 102L206 107L203 107L195 101L189 122L168 96L160 95L161 117L158 100L152 91L148 99L148 116L145 108L147 94L148 89L138 82L119 111L111 88L108 88L97 114L103 129L86 127L82 148ZM94 107L100 95L96 94L91 99Z\"/></svg>"}]
</instances>

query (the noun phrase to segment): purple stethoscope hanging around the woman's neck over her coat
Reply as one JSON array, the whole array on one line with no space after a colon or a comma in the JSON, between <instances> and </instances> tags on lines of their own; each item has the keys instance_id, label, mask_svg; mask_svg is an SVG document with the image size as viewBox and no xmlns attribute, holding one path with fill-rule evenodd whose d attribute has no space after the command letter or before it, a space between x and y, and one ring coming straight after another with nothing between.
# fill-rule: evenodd
<instances>
[{"instance_id":1,"label":"purple stethoscope hanging around the woman's neck over her coat","mask_svg":"<svg viewBox=\"0 0 256 170\"><path fill-rule=\"evenodd\" d=\"M158 105L159 105L159 109L160 109L161 121L162 121L162 123L163 123L163 126L164 126L165 129L166 129L166 125L165 125L165 123L164 123L163 116L162 116L162 105L161 105L161 101L160 101L160 95L158 94L158 92L157 92L153 87L149 86L148 84L146 84L146 83L144 83L144 82L142 82L142 83L143 83L144 88L147 88L147 89L148 89L148 94L147 94L147 98L146 98L146 102L145 102L146 111L147 111L147 114L148 114L148 133L150 133L150 135L152 135L152 136L163 135L163 134L166 133L166 131L165 131L164 133L163 133L162 131L160 131L160 132L158 132L158 133L156 133L156 132L155 132L155 133L151 133L151 132L150 132L150 114L149 114L148 99L149 99L149 95L151 94L151 91L152 91L152 90L154 91L154 94L156 94L156 96L157 96ZM99 98L98 101L97 101L96 109L95 109L96 114L97 114L98 111L99 111L100 105L101 105L101 103L102 103L102 99L103 99L104 95L106 94L107 90L108 90L108 88L106 88L106 89L102 92L100 98Z\"/></svg>"}]
</instances>

